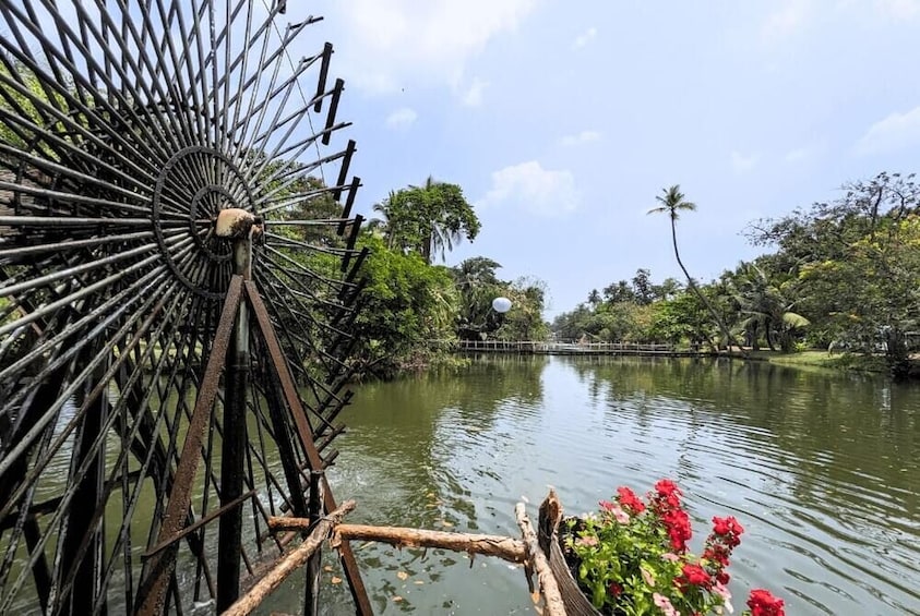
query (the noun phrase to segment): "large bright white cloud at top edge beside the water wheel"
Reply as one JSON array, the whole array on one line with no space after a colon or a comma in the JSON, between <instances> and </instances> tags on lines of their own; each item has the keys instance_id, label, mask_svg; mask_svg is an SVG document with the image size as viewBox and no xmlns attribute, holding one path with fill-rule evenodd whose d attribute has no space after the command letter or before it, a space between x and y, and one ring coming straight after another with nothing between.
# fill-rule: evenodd
<instances>
[{"instance_id":1,"label":"large bright white cloud at top edge beside the water wheel","mask_svg":"<svg viewBox=\"0 0 920 616\"><path fill-rule=\"evenodd\" d=\"M537 0L349 0L327 2L336 33L334 65L350 84L391 93L408 84L456 88L467 60L514 32Z\"/></svg>"}]
</instances>

